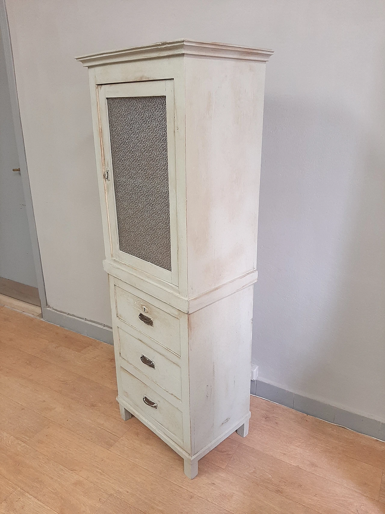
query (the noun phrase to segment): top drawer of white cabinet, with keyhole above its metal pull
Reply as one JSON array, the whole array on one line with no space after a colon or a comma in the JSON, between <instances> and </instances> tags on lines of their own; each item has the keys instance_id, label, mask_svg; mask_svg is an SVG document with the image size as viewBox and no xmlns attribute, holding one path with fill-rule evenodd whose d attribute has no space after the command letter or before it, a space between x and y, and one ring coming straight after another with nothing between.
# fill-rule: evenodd
<instances>
[{"instance_id":1,"label":"top drawer of white cabinet, with keyhole above its metal pull","mask_svg":"<svg viewBox=\"0 0 385 514\"><path fill-rule=\"evenodd\" d=\"M180 321L155 305L115 285L117 316L171 352L181 353Z\"/></svg>"}]
</instances>

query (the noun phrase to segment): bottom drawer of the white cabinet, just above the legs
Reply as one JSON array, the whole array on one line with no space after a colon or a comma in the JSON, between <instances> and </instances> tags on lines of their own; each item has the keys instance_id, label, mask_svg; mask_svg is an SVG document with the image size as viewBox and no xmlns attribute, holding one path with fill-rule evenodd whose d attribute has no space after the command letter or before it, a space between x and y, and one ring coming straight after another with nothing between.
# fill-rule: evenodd
<instances>
[{"instance_id":1,"label":"bottom drawer of the white cabinet, just above the legs","mask_svg":"<svg viewBox=\"0 0 385 514\"><path fill-rule=\"evenodd\" d=\"M120 372L123 393L128 403L133 407L136 406L147 419L152 418L157 421L166 429L166 435L176 443L183 442L182 412L124 368L121 367ZM152 402L153 407L146 402Z\"/></svg>"}]
</instances>

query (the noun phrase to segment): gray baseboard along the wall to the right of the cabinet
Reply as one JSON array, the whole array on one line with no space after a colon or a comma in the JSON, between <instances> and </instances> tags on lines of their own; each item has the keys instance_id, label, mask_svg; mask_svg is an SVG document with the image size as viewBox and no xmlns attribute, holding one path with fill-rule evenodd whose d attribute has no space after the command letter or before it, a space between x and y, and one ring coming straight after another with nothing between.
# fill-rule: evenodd
<instances>
[{"instance_id":1,"label":"gray baseboard along the wall to the right of the cabinet","mask_svg":"<svg viewBox=\"0 0 385 514\"><path fill-rule=\"evenodd\" d=\"M344 411L327 403L272 386L272 384L262 382L261 380L251 380L250 394L274 401L274 403L279 403L295 411L329 421L329 423L334 423L340 427L349 428L360 434L370 435L385 441L385 423L381 423L381 421L376 419Z\"/></svg>"}]
</instances>

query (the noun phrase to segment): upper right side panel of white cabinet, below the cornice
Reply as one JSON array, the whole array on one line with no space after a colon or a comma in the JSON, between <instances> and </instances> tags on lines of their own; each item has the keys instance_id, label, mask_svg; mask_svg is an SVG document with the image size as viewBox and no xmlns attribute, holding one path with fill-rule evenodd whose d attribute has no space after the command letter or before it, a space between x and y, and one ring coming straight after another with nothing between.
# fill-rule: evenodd
<instances>
[{"instance_id":1,"label":"upper right side panel of white cabinet, below the cornice","mask_svg":"<svg viewBox=\"0 0 385 514\"><path fill-rule=\"evenodd\" d=\"M256 269L264 73L185 58L189 297Z\"/></svg>"}]
</instances>

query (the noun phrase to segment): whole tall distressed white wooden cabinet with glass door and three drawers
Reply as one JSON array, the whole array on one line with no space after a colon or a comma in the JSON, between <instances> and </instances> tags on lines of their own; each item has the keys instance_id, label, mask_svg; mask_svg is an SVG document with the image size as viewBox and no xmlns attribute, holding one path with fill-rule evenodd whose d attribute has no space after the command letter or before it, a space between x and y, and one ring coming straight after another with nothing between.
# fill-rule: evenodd
<instances>
[{"instance_id":1,"label":"whole tall distressed white wooden cabinet with glass door and three drawers","mask_svg":"<svg viewBox=\"0 0 385 514\"><path fill-rule=\"evenodd\" d=\"M265 65L180 40L89 70L121 414L184 459L247 434Z\"/></svg>"}]
</instances>

